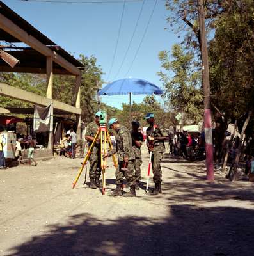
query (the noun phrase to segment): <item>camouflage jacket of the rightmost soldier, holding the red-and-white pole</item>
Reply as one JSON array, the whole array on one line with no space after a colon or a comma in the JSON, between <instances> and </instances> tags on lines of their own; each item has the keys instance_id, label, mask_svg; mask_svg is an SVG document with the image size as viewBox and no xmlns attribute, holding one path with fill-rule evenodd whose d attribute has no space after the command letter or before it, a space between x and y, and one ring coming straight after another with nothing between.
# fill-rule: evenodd
<instances>
[{"instance_id":1,"label":"camouflage jacket of the rightmost soldier, holding the red-and-white pole","mask_svg":"<svg viewBox=\"0 0 254 256\"><path fill-rule=\"evenodd\" d=\"M152 142L148 140L148 136L152 136L154 137L154 139L156 139L156 137L167 136L167 134L164 134L164 132L161 131L158 125L153 125L147 128L147 146L149 145L150 142ZM165 151L164 141L155 140L153 152L164 152L164 151Z\"/></svg>"}]
</instances>

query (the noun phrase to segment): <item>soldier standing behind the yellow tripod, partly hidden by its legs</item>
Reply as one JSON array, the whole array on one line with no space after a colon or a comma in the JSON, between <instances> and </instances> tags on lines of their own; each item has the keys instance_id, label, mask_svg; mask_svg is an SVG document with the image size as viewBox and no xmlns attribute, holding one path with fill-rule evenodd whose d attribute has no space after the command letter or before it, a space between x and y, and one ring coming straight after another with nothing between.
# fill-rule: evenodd
<instances>
[{"instance_id":1,"label":"soldier standing behind the yellow tripod, partly hidden by its legs","mask_svg":"<svg viewBox=\"0 0 254 256\"><path fill-rule=\"evenodd\" d=\"M100 126L100 111L95 113L95 120L88 124L86 128L86 134L84 138L88 141L89 147L91 146L91 143L93 142L95 135L97 134L97 131L99 130ZM93 147L93 150L91 152L91 156L89 158L90 163L90 170L89 170L89 177L90 177L90 185L89 188L96 189L96 187L99 188L100 186L100 173L101 173L101 164L100 164L100 143L99 139L97 140L97 143L95 143L95 146Z\"/></svg>"}]
</instances>

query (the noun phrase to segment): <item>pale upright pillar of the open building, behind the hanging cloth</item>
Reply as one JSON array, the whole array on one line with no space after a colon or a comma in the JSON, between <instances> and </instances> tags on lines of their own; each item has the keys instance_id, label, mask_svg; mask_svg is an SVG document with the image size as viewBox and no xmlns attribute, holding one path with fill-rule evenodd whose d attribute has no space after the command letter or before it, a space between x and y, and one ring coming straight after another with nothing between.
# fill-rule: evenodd
<instances>
[{"instance_id":1,"label":"pale upright pillar of the open building, behind the hanging cloth","mask_svg":"<svg viewBox=\"0 0 254 256\"><path fill-rule=\"evenodd\" d=\"M47 98L48 99L53 99L53 59L51 56L47 57ZM52 106L53 108L53 106ZM49 149L54 148L54 140L53 140L53 109L51 111L51 125L49 129L49 140L47 143L47 147Z\"/></svg>"}]
</instances>

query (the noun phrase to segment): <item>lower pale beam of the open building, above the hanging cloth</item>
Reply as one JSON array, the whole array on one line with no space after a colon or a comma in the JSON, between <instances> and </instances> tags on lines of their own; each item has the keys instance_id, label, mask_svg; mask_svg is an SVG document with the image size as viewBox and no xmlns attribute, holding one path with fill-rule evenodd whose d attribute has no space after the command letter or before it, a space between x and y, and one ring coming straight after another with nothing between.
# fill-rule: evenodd
<instances>
[{"instance_id":1,"label":"lower pale beam of the open building, above the hanging cloth","mask_svg":"<svg viewBox=\"0 0 254 256\"><path fill-rule=\"evenodd\" d=\"M47 99L46 97L26 92L25 90L4 83L0 83L0 95L30 102L32 104L38 104L40 106L48 106L52 102L54 109L60 109L67 111L68 113L81 115L80 108L75 108L74 106L70 106L58 100Z\"/></svg>"}]
</instances>

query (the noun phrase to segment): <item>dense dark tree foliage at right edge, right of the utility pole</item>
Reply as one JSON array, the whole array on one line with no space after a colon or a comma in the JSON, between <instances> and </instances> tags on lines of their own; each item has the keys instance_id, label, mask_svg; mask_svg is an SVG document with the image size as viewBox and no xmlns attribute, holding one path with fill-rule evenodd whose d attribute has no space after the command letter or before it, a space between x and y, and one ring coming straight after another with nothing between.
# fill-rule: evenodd
<instances>
[{"instance_id":1,"label":"dense dark tree foliage at right edge, right of the utility pole","mask_svg":"<svg viewBox=\"0 0 254 256\"><path fill-rule=\"evenodd\" d=\"M230 1L230 8L216 20L210 43L212 101L235 118L253 108L253 13L253 1Z\"/></svg>"}]
</instances>

